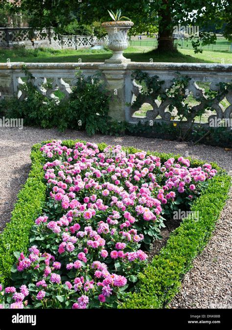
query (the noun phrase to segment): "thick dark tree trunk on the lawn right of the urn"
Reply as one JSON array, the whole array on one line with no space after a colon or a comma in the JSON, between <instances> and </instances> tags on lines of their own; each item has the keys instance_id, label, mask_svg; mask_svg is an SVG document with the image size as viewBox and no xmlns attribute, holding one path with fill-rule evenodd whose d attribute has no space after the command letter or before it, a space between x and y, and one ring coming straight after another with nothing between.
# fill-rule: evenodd
<instances>
[{"instance_id":1,"label":"thick dark tree trunk on the lawn right of the urn","mask_svg":"<svg viewBox=\"0 0 232 330\"><path fill-rule=\"evenodd\" d=\"M167 4L167 0L163 0L163 4ZM165 9L160 10L159 17L161 21L159 24L157 50L161 52L173 51L173 24L170 8L166 6Z\"/></svg>"}]
</instances>

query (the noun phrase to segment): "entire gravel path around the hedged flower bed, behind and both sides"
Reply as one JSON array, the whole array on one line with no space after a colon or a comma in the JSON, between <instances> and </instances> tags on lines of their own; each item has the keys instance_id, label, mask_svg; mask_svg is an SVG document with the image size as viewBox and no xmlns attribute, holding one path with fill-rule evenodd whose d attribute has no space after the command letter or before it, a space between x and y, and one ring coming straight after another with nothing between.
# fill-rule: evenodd
<instances>
[{"instance_id":1,"label":"entire gravel path around the hedged flower bed, behind and both sides","mask_svg":"<svg viewBox=\"0 0 232 330\"><path fill-rule=\"evenodd\" d=\"M232 152L219 147L190 146L187 143L135 136L89 137L76 131L60 133L28 127L23 130L0 128L0 231L10 220L17 194L28 176L31 146L44 140L77 138L214 161L232 174ZM186 274L182 290L170 304L171 308L230 308L231 200L228 200L209 244Z\"/></svg>"}]
</instances>

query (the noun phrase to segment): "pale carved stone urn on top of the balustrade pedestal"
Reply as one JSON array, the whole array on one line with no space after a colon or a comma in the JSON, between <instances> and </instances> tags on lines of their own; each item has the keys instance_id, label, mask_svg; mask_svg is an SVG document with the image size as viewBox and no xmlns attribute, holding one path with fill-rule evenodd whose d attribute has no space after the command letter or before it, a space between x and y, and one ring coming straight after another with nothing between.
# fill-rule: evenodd
<instances>
[{"instance_id":1,"label":"pale carved stone urn on top of the balustrade pedestal","mask_svg":"<svg viewBox=\"0 0 232 330\"><path fill-rule=\"evenodd\" d=\"M112 21L103 22L101 24L108 33L110 50L113 50L113 56L106 63L125 63L130 62L122 54L123 50L128 47L128 30L134 25L131 21Z\"/></svg>"}]
</instances>

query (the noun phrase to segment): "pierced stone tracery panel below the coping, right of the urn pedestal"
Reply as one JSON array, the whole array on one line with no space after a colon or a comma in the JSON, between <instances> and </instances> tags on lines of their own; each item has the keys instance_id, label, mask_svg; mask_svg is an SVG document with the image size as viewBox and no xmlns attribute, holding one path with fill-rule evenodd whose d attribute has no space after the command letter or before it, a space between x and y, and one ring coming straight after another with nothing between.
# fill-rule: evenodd
<instances>
[{"instance_id":1,"label":"pierced stone tracery panel below the coping, right of the urn pedestal","mask_svg":"<svg viewBox=\"0 0 232 330\"><path fill-rule=\"evenodd\" d=\"M151 87L147 89L148 85L145 86L145 80L146 84L150 84L151 81L150 83L148 81L149 77L152 76L156 79L156 83L153 89ZM129 121L130 118L133 122L138 122L139 118L147 120L162 118L164 121L178 121L181 114L182 120L186 122L194 121L208 125L212 120L232 116L232 90L228 88L225 91L219 84L220 80L212 79L210 82L209 79L206 81L204 76L199 75L202 80L191 78L187 83L185 81L185 84L181 84L178 90L175 87L177 85L173 85L173 82L177 77L185 77L180 74L172 75L172 79L164 74L160 78L154 73L145 74L144 77L146 78L142 83L139 80L139 83L142 84L139 85L135 76L132 76L131 106L127 108L130 113L129 118L127 116ZM179 97L178 103L176 100ZM150 109L147 108L147 105L150 105ZM147 111L145 111L146 109Z\"/></svg>"}]
</instances>

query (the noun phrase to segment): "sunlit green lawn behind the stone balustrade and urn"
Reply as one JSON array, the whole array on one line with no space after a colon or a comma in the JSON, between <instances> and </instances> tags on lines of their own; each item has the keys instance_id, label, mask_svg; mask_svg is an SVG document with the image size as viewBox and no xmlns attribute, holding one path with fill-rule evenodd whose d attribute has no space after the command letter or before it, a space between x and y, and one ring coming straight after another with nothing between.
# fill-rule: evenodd
<instances>
[{"instance_id":1,"label":"sunlit green lawn behind the stone balustrade and urn","mask_svg":"<svg viewBox=\"0 0 232 330\"><path fill-rule=\"evenodd\" d=\"M194 54L191 49L180 49L179 52L158 54L148 46L129 46L124 52L125 57L134 62L176 62L176 63L232 63L232 53L203 51ZM7 59L11 62L104 62L111 57L111 51L91 50L89 48L71 50L39 49L0 49L0 62Z\"/></svg>"}]
</instances>

